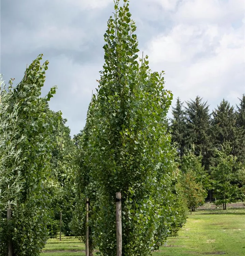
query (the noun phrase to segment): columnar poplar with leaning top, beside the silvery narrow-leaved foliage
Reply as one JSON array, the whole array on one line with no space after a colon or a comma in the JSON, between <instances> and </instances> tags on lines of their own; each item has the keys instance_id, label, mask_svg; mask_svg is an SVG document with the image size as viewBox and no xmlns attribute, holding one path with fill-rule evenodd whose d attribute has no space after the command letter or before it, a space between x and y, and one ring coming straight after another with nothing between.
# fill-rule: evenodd
<instances>
[{"instance_id":1,"label":"columnar poplar with leaning top, beside the silvery narrow-leaved foliage","mask_svg":"<svg viewBox=\"0 0 245 256\"><path fill-rule=\"evenodd\" d=\"M12 207L11 230L6 230L6 214L0 213L0 252L5 255L7 240L12 239L14 255L39 255L48 237L48 195L46 193L49 161L52 153L50 134L53 131L52 117L49 115L48 101L55 93L53 87L46 97L41 98L41 88L45 81L48 62L41 65L42 55L34 60L23 80L13 88L9 99L8 113L14 113L18 105L15 141L21 140L18 148L21 168L21 189L16 194L16 205ZM20 132L21 131L21 132ZM7 139L6 143L11 143ZM18 160L18 158L17 158Z\"/></svg>"}]
</instances>

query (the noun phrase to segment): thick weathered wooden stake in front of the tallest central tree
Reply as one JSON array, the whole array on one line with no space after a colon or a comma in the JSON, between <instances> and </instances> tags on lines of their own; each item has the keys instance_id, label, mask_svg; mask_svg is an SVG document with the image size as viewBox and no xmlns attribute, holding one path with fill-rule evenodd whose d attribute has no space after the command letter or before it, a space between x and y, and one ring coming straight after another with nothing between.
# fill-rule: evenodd
<instances>
[{"instance_id":1,"label":"thick weathered wooden stake in front of the tallest central tree","mask_svg":"<svg viewBox=\"0 0 245 256\"><path fill-rule=\"evenodd\" d=\"M116 193L117 214L117 256L122 255L122 216L121 216L121 193Z\"/></svg>"}]
</instances>

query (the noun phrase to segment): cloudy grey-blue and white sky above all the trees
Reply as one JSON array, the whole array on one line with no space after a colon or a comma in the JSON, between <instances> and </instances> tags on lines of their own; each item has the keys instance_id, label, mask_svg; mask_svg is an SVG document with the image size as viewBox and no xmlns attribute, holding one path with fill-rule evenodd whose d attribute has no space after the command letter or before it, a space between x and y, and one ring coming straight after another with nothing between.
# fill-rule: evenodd
<instances>
[{"instance_id":1,"label":"cloudy grey-blue and white sky above all the trees","mask_svg":"<svg viewBox=\"0 0 245 256\"><path fill-rule=\"evenodd\" d=\"M121 0L121 2L123 2ZM67 118L71 136L83 129L103 66L103 34L113 0L0 0L0 73L24 76L43 53L49 60L42 94L57 85L49 105ZM245 93L244 0L131 0L139 49L165 88L182 101L197 95L217 107Z\"/></svg>"}]
</instances>

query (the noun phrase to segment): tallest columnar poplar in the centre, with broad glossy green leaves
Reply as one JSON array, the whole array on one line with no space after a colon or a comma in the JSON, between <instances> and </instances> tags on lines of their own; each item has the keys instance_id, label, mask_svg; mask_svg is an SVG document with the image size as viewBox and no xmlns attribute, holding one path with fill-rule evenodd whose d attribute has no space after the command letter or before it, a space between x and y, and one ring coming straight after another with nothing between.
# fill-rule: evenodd
<instances>
[{"instance_id":1,"label":"tallest columnar poplar in the centre, with broad glossy green leaves","mask_svg":"<svg viewBox=\"0 0 245 256\"><path fill-rule=\"evenodd\" d=\"M105 64L86 143L100 203L93 234L103 256L116 254L116 192L122 194L124 256L148 255L175 219L178 228L184 222L177 218L177 167L165 120L172 94L164 90L163 72L149 70L147 56L139 63L136 27L124 2L115 2L104 35Z\"/></svg>"}]
</instances>

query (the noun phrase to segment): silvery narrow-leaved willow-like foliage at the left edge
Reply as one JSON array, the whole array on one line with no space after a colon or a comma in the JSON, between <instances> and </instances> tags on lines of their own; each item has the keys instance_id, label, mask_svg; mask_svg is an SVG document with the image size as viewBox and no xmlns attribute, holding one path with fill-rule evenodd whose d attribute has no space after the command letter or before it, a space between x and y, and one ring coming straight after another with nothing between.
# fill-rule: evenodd
<instances>
[{"instance_id":1,"label":"silvery narrow-leaved willow-like foliage at the left edge","mask_svg":"<svg viewBox=\"0 0 245 256\"><path fill-rule=\"evenodd\" d=\"M0 212L6 214L8 205L16 204L22 183L20 170L25 159L20 158L19 106L13 106L11 112L10 99L13 94L11 87L6 86L0 76Z\"/></svg>"}]
</instances>

